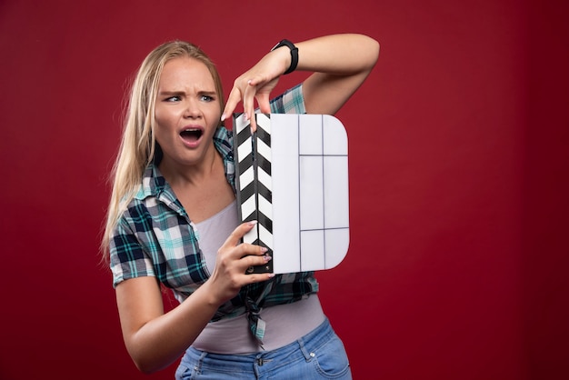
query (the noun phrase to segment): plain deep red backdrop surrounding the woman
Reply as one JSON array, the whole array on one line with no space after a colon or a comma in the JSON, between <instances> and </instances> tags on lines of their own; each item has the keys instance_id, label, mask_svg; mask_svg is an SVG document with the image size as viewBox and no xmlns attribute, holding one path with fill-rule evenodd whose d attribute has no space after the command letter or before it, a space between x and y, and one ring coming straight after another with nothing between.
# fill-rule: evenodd
<instances>
[{"instance_id":1,"label":"plain deep red backdrop surrounding the woman","mask_svg":"<svg viewBox=\"0 0 569 380\"><path fill-rule=\"evenodd\" d=\"M180 38L228 91L281 38L339 32L382 45L337 114L351 245L318 274L354 378L569 378L567 8L3 0L0 378L173 377L136 371L97 252L127 78Z\"/></svg>"}]
</instances>

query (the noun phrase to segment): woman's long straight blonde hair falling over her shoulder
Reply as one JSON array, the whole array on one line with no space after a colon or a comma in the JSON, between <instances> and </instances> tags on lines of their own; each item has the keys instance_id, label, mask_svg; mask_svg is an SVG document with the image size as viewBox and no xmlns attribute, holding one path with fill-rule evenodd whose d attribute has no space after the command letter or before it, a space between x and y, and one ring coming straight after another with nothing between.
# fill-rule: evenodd
<instances>
[{"instance_id":1,"label":"woman's long straight blonde hair falling over her shoulder","mask_svg":"<svg viewBox=\"0 0 569 380\"><path fill-rule=\"evenodd\" d=\"M160 75L166 62L181 56L194 58L207 66L215 82L220 109L224 109L219 73L212 60L199 47L184 41L171 41L157 46L146 56L131 85L123 137L111 172L113 190L101 244L105 259L116 223L140 186L145 167L155 157L155 101Z\"/></svg>"}]
</instances>

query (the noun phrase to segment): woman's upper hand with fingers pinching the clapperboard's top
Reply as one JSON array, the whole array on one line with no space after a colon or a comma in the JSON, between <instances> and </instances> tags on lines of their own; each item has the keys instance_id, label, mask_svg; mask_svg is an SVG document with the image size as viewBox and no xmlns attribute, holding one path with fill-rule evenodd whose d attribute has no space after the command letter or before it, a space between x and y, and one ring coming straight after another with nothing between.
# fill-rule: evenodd
<instances>
[{"instance_id":1,"label":"woman's upper hand with fingers pinching the clapperboard's top","mask_svg":"<svg viewBox=\"0 0 569 380\"><path fill-rule=\"evenodd\" d=\"M235 79L234 86L229 93L222 120L229 117L237 104L243 101L245 119L251 121L251 128L255 131L255 100L262 113L271 112L269 105L271 91L278 83L278 79L290 65L288 49L279 48L265 55L255 66Z\"/></svg>"}]
</instances>

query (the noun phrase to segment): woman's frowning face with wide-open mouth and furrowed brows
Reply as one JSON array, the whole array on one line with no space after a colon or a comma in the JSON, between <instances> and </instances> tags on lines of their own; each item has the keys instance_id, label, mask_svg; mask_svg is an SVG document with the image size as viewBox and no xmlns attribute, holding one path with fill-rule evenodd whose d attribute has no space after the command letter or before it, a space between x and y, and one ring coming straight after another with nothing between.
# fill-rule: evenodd
<instances>
[{"instance_id":1,"label":"woman's frowning face with wide-open mouth and furrowed brows","mask_svg":"<svg viewBox=\"0 0 569 380\"><path fill-rule=\"evenodd\" d=\"M155 104L155 139L162 165L193 166L215 155L213 136L221 109L207 66L190 57L168 61Z\"/></svg>"}]
</instances>

